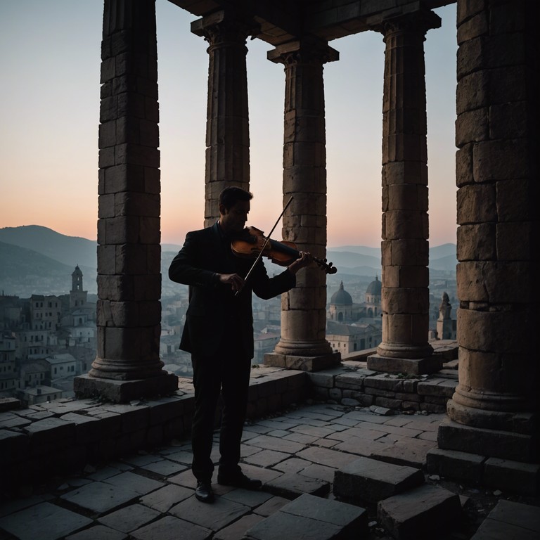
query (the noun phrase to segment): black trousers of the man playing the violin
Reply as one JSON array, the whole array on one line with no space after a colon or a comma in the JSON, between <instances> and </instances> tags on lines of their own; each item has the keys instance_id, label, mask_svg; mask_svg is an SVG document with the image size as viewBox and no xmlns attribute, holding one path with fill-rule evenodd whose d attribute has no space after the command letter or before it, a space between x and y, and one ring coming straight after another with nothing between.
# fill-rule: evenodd
<instances>
[{"instance_id":1,"label":"black trousers of the man playing the violin","mask_svg":"<svg viewBox=\"0 0 540 540\"><path fill-rule=\"evenodd\" d=\"M211 339L209 337L209 339ZM216 425L216 409L221 394L221 426L219 431L219 472L233 474L240 470L240 442L248 406L251 359L242 347L228 340L215 356L191 356L195 412L191 428L193 463L197 480L210 483L214 472L212 442Z\"/></svg>"}]
</instances>

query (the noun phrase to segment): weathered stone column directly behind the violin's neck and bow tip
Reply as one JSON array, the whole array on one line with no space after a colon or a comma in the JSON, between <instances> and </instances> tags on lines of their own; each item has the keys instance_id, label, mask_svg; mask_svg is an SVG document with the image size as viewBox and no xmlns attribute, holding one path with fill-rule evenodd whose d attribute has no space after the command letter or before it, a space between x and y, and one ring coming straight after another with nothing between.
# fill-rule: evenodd
<instances>
[{"instance_id":1,"label":"weathered stone column directly behind the violin's neck and bow tip","mask_svg":"<svg viewBox=\"0 0 540 540\"><path fill-rule=\"evenodd\" d=\"M316 257L326 256L326 132L323 64L338 51L314 39L268 53L285 65L282 238ZM315 264L297 274L297 287L281 297L281 340L264 364L306 370L340 361L326 340L326 271Z\"/></svg>"}]
</instances>

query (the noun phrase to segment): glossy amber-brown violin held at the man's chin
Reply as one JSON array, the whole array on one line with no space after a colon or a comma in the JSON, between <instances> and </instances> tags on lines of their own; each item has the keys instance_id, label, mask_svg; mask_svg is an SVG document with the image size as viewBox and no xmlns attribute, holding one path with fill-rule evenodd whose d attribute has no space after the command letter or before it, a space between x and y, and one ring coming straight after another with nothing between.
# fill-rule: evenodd
<instances>
[{"instance_id":1,"label":"glossy amber-brown violin held at the man's chin","mask_svg":"<svg viewBox=\"0 0 540 540\"><path fill-rule=\"evenodd\" d=\"M262 255L280 266L289 266L300 257L300 252L294 242L286 240L278 242L266 238L264 232L257 227L246 227L243 233L240 233L238 238L231 242L231 250L237 257L248 259ZM326 262L326 259L312 258L321 269L326 271L326 274L335 274L338 271L331 262Z\"/></svg>"}]
</instances>

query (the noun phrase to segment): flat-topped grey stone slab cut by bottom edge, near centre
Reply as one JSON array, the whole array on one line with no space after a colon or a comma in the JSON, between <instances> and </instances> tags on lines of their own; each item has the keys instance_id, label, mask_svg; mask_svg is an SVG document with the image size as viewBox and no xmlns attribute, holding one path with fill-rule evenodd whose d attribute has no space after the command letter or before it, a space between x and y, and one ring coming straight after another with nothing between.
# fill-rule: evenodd
<instances>
[{"instance_id":1,"label":"flat-topped grey stone slab cut by bottom edge, near centre","mask_svg":"<svg viewBox=\"0 0 540 540\"><path fill-rule=\"evenodd\" d=\"M245 533L245 540L361 540L368 534L365 508L303 494Z\"/></svg>"}]
</instances>

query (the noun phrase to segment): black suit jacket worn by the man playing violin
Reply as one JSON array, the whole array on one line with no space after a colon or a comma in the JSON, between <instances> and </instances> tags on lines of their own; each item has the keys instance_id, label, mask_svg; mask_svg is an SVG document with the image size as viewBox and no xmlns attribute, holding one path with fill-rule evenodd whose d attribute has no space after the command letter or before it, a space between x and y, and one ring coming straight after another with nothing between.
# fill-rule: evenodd
<instances>
[{"instance_id":1,"label":"black suit jacket worn by the man playing violin","mask_svg":"<svg viewBox=\"0 0 540 540\"><path fill-rule=\"evenodd\" d=\"M262 259L255 265L243 290L235 296L230 285L219 283L216 274L245 277L255 259L233 255L231 240L217 222L207 229L191 231L169 266L169 278L189 285L189 307L180 349L196 355L217 354L232 332L246 356L253 358L253 315L251 295L267 300L296 285L296 276L285 270L269 277Z\"/></svg>"}]
</instances>

